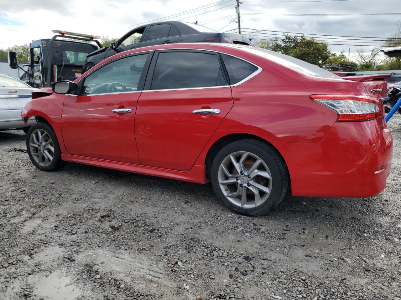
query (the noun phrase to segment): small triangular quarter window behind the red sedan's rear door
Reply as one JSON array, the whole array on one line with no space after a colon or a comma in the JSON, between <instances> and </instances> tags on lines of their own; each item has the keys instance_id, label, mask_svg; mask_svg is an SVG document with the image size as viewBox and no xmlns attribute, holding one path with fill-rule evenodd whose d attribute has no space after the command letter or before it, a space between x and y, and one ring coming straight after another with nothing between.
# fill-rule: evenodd
<instances>
[{"instance_id":1,"label":"small triangular quarter window behind the red sedan's rear door","mask_svg":"<svg viewBox=\"0 0 401 300\"><path fill-rule=\"evenodd\" d=\"M230 84L236 84L241 80L244 80L257 70L257 66L239 58L226 54L221 54L221 58L223 58L224 65L227 69Z\"/></svg>"}]
</instances>

